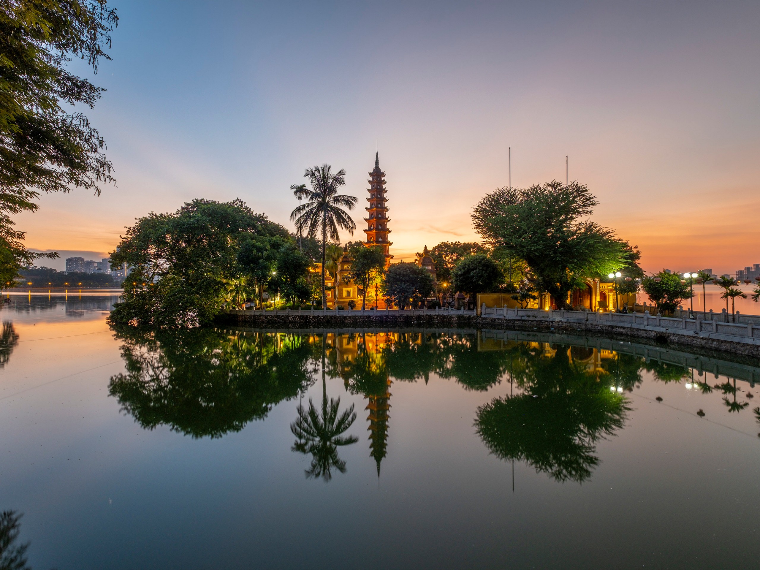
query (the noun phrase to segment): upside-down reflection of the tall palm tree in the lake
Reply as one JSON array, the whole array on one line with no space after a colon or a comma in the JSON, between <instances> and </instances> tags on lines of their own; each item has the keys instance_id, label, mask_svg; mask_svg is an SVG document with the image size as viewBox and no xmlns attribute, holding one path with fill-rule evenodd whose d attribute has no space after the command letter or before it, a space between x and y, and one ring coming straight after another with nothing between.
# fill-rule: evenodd
<instances>
[{"instance_id":1,"label":"upside-down reflection of the tall palm tree in the lake","mask_svg":"<svg viewBox=\"0 0 760 570\"><path fill-rule=\"evenodd\" d=\"M306 470L306 477L311 479L321 477L327 483L332 478L332 469L340 473L346 472L346 461L340 459L337 448L340 445L351 445L359 441L356 435L344 436L356 420L353 404L338 413L340 397L330 398L328 403L327 387L325 384L325 335L322 335L322 405L318 411L309 398L309 409L302 405L298 407L298 419L290 424L290 431L296 436L293 451L302 454L312 454L312 464Z\"/></svg>"}]
</instances>

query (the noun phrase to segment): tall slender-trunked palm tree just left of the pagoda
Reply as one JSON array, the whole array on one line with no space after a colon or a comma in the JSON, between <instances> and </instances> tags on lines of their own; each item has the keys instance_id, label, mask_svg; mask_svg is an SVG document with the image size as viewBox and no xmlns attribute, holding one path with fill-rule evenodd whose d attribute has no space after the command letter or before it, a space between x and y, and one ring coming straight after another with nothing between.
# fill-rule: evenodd
<instances>
[{"instance_id":1,"label":"tall slender-trunked palm tree just left of the pagoda","mask_svg":"<svg viewBox=\"0 0 760 570\"><path fill-rule=\"evenodd\" d=\"M356 205L356 196L339 195L337 189L346 185L346 171L340 169L332 173L329 164L307 168L303 174L312 185L307 190L306 198L309 201L297 207L290 214L290 219L296 221L296 229L299 232L306 230L309 237L313 238L318 232L322 235L322 306L325 302L325 254L328 245L328 237L337 242L340 236L338 228L346 230L353 236L356 223L343 208L353 210Z\"/></svg>"}]
</instances>

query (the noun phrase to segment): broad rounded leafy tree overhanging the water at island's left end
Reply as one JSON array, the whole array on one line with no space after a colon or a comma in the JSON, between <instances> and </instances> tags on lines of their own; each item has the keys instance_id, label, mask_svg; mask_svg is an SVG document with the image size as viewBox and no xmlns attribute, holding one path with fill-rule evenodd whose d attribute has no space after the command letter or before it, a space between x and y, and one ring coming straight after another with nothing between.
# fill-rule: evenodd
<instances>
[{"instance_id":1,"label":"broad rounded leafy tree overhanging the water at island's left end","mask_svg":"<svg viewBox=\"0 0 760 570\"><path fill-rule=\"evenodd\" d=\"M111 321L158 328L210 323L223 305L225 280L249 274L242 245L271 244L290 234L241 200L194 200L174 214L142 217L127 229L111 254L114 265L131 268L124 302ZM276 255L275 255L276 258Z\"/></svg>"}]
</instances>

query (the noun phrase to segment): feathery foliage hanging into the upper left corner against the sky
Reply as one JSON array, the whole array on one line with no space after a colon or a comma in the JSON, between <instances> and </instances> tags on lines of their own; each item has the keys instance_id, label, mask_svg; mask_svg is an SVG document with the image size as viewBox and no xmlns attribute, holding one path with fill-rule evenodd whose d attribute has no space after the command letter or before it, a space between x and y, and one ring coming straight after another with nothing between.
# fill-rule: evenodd
<instances>
[{"instance_id":1,"label":"feathery foliage hanging into the upper left corner against the sky","mask_svg":"<svg viewBox=\"0 0 760 570\"><path fill-rule=\"evenodd\" d=\"M72 57L97 72L119 23L105 0L18 0L0 7L0 279L58 255L30 252L10 214L36 211L40 192L84 188L100 194L114 182L105 143L87 116L63 104L93 108L103 88L72 74Z\"/></svg>"}]
</instances>

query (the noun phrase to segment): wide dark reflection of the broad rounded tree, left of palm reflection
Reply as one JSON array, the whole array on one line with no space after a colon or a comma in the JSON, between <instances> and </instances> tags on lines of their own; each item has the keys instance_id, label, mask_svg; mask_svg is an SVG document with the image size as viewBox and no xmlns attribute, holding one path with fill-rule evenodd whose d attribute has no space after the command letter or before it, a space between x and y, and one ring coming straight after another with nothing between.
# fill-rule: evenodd
<instances>
[{"instance_id":1,"label":"wide dark reflection of the broad rounded tree, left of palm reflection","mask_svg":"<svg viewBox=\"0 0 760 570\"><path fill-rule=\"evenodd\" d=\"M312 349L297 334L216 329L116 329L126 372L109 393L144 428L200 438L238 432L314 382Z\"/></svg>"}]
</instances>

